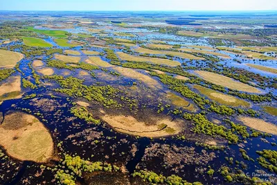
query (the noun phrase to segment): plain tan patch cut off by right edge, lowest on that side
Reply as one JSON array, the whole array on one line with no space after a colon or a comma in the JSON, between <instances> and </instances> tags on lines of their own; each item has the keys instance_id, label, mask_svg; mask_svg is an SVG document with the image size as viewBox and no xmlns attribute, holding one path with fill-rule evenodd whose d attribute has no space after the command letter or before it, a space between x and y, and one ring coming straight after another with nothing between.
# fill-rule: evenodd
<instances>
[{"instance_id":1,"label":"plain tan patch cut off by right edge, lowest on that side","mask_svg":"<svg viewBox=\"0 0 277 185\"><path fill-rule=\"evenodd\" d=\"M259 130L260 132L267 132L269 134L277 135L277 126L263 121L262 119L240 116L239 121L242 121L244 125L247 125L248 127L251 127L255 130Z\"/></svg>"}]
</instances>

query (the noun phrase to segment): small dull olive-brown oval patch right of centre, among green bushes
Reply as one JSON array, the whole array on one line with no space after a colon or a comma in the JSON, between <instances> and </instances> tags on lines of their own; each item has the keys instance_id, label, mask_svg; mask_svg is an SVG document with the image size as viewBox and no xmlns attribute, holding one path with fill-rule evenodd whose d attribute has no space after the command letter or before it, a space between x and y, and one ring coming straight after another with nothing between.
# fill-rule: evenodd
<instances>
[{"instance_id":1,"label":"small dull olive-brown oval patch right of centre, among green bushes","mask_svg":"<svg viewBox=\"0 0 277 185\"><path fill-rule=\"evenodd\" d=\"M193 104L182 98L181 96L177 96L176 94L168 91L166 94L167 98L171 101L173 105L176 105L177 107L182 107L184 109L187 109L191 112L196 112L197 107Z\"/></svg>"}]
</instances>

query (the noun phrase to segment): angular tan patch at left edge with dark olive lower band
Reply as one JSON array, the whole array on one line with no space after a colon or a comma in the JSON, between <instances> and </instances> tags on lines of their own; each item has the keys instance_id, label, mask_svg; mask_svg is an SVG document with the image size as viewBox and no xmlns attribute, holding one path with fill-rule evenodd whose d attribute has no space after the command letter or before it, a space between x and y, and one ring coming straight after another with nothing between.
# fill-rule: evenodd
<instances>
[{"instance_id":1,"label":"angular tan patch at left edge with dark olive lower band","mask_svg":"<svg viewBox=\"0 0 277 185\"><path fill-rule=\"evenodd\" d=\"M0 100L21 98L21 77L11 76L6 83L0 85Z\"/></svg>"}]
</instances>

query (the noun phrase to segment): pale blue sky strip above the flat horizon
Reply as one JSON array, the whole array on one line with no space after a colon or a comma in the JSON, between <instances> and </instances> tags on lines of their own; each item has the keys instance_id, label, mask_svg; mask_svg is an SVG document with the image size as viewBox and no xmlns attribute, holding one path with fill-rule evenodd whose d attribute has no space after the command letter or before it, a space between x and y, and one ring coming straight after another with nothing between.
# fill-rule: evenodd
<instances>
[{"instance_id":1,"label":"pale blue sky strip above the flat horizon","mask_svg":"<svg viewBox=\"0 0 277 185\"><path fill-rule=\"evenodd\" d=\"M0 10L277 10L277 0L0 0Z\"/></svg>"}]
</instances>

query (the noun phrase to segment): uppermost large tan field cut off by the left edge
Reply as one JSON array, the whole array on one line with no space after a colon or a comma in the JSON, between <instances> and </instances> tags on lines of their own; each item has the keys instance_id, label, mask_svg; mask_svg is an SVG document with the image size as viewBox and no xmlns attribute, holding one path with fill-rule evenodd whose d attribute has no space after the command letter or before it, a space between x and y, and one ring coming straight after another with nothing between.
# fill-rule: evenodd
<instances>
[{"instance_id":1,"label":"uppermost large tan field cut off by the left edge","mask_svg":"<svg viewBox=\"0 0 277 185\"><path fill-rule=\"evenodd\" d=\"M0 49L0 67L15 67L22 58L21 53Z\"/></svg>"}]
</instances>

